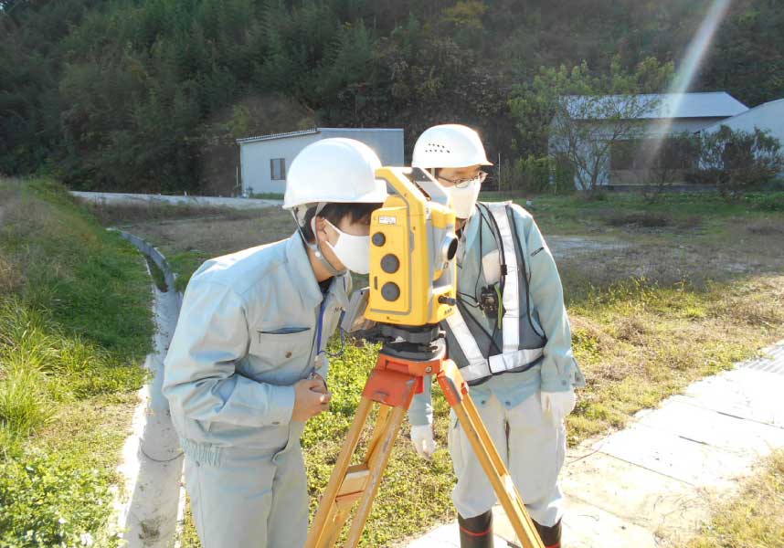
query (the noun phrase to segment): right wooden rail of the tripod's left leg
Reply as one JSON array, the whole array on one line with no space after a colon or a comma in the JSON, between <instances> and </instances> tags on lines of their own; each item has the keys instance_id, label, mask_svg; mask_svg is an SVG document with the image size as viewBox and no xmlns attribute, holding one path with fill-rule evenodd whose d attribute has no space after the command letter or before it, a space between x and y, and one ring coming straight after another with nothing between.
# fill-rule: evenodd
<instances>
[{"instance_id":1,"label":"right wooden rail of the tripod's left leg","mask_svg":"<svg viewBox=\"0 0 784 548\"><path fill-rule=\"evenodd\" d=\"M382 406L382 409L389 407ZM392 448L395 447L395 440L397 433L400 431L400 425L406 417L407 409L402 407L393 407L385 425L376 425L381 427L381 435L374 436L376 443L370 448L367 455L367 467L370 471L370 476L367 480L365 492L362 494L362 499L359 501L359 507L356 509L354 520L351 522L351 529L348 532L348 538L345 541L344 548L354 548L359 543L359 537L365 529L367 516L370 514L370 509L373 506L373 501L376 499L376 492L378 486L381 484L381 477L384 475L384 470L387 469L387 462L389 456L392 454ZM379 423L381 421L379 420Z\"/></svg>"}]
</instances>

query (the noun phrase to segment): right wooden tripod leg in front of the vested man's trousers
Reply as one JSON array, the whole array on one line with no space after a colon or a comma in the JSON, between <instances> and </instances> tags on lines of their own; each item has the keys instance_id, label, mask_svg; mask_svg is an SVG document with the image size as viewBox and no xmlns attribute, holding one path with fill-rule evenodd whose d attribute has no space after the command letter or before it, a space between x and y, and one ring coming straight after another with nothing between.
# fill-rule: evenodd
<instances>
[{"instance_id":1,"label":"right wooden tripod leg in front of the vested man's trousers","mask_svg":"<svg viewBox=\"0 0 784 548\"><path fill-rule=\"evenodd\" d=\"M531 517L525 510L523 498L514 486L512 476L503 464L503 459L493 444L493 438L487 432L482 417L474 406L471 395L468 394L467 387L465 391L459 388L464 385L460 371L449 360L444 362L441 371L438 377L439 385L460 420L473 452L482 464L487 479L493 485L498 500L501 501L503 511L512 522L517 538L523 543L524 548L545 548L536 532L534 522L531 522Z\"/></svg>"}]
</instances>

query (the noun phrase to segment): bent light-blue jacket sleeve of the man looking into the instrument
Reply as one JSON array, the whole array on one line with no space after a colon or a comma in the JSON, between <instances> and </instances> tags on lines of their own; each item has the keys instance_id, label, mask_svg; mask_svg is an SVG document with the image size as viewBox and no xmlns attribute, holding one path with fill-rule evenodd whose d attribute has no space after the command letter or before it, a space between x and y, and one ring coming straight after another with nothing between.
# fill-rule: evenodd
<instances>
[{"instance_id":1,"label":"bent light-blue jacket sleeve of the man looking into the instrument","mask_svg":"<svg viewBox=\"0 0 784 548\"><path fill-rule=\"evenodd\" d=\"M250 342L245 313L245 302L227 286L198 280L188 285L164 362L163 391L173 412L243 427L291 421L293 386L237 373Z\"/></svg>"}]
</instances>

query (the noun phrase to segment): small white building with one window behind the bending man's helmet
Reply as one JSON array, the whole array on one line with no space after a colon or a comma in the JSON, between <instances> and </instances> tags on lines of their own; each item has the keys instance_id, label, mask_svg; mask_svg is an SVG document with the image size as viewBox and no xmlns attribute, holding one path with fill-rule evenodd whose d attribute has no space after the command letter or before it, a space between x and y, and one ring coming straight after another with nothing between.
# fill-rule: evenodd
<instances>
[{"instance_id":1,"label":"small white building with one window behind the bending man's helmet","mask_svg":"<svg viewBox=\"0 0 784 548\"><path fill-rule=\"evenodd\" d=\"M243 195L286 191L291 161L312 142L346 137L366 143L384 165L403 165L403 130L393 128L313 128L238 139Z\"/></svg>"}]
</instances>

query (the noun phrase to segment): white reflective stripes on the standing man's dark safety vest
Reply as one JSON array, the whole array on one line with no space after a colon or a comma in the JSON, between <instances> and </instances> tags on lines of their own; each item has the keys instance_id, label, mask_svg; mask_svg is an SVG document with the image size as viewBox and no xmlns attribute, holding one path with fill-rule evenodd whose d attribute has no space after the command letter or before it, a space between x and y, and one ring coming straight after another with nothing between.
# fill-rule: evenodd
<instances>
[{"instance_id":1,"label":"white reflective stripes on the standing man's dark safety vest","mask_svg":"<svg viewBox=\"0 0 784 548\"><path fill-rule=\"evenodd\" d=\"M502 374L522 371L528 364L534 363L544 354L544 347L533 349L520 348L520 283L519 276L525 276L525 272L519 272L520 259L517 257L514 245L514 235L510 226L509 216L507 215L507 205L488 204L488 209L493 215L493 219L498 227L503 247L504 263L506 273L503 283L503 352L485 358L479 345L471 334L471 330L466 325L461 311L457 308L454 313L447 318L447 325L450 332L460 346L460 350L465 356L467 364L460 364L463 378L467 382L473 382L490 377L493 374ZM482 230L482 227L479 228ZM527 299L527 295L524 296ZM530 313L530 311L527 311Z\"/></svg>"}]
</instances>

